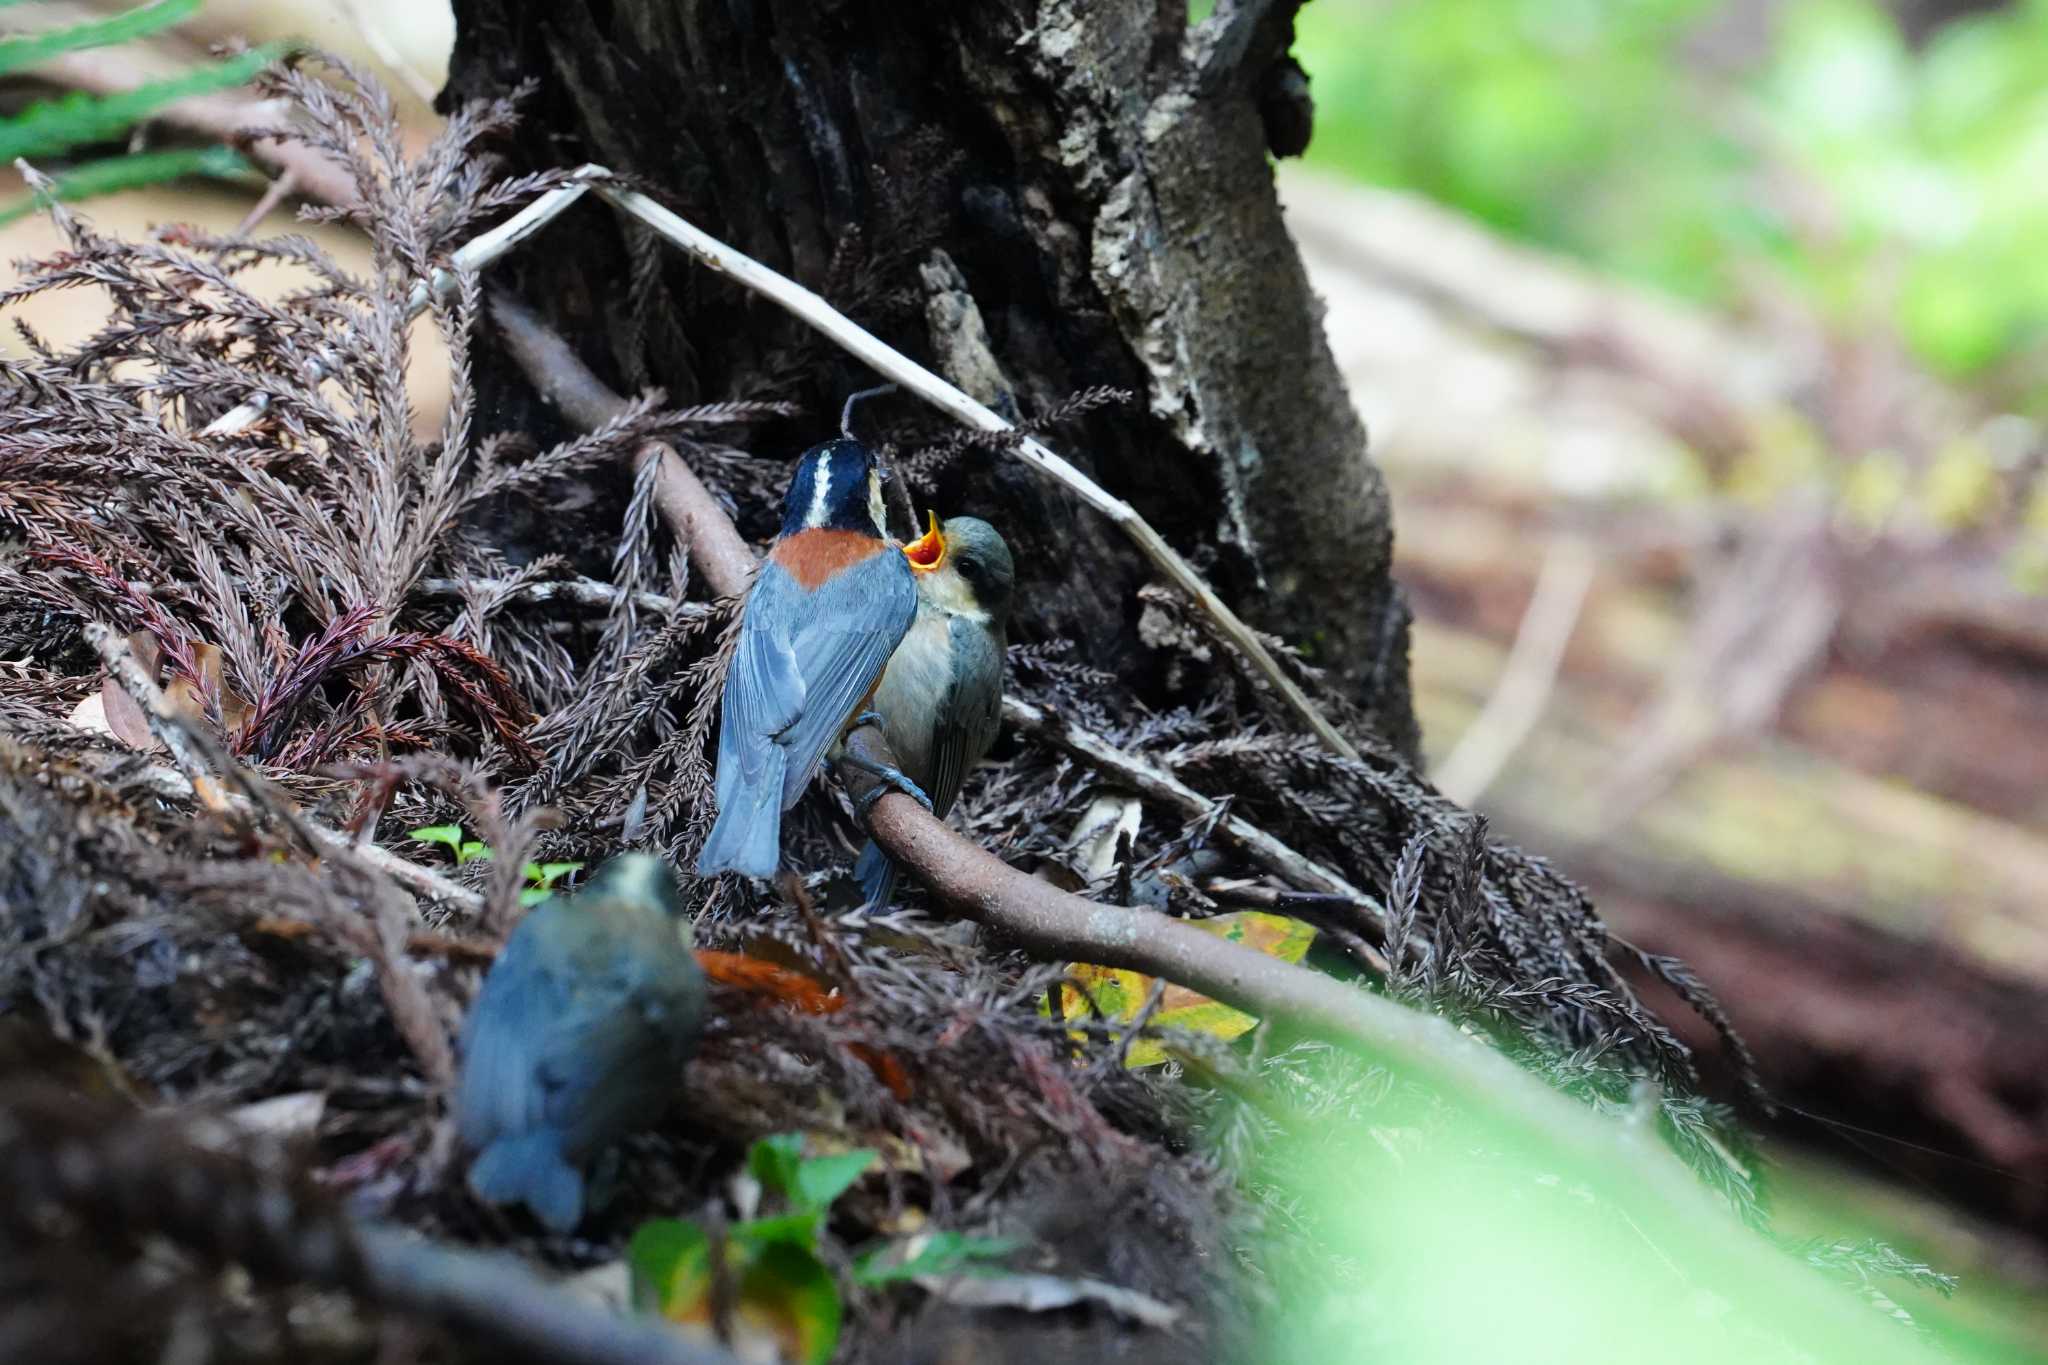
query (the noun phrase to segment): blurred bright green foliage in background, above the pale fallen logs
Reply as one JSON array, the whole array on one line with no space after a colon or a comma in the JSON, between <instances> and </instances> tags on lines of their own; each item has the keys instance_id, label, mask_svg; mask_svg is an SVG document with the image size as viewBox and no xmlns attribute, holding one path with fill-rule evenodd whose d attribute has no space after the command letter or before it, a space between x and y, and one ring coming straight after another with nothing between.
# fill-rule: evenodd
<instances>
[{"instance_id":1,"label":"blurred bright green foliage in background, above the pale fallen logs","mask_svg":"<svg viewBox=\"0 0 2048 1365\"><path fill-rule=\"evenodd\" d=\"M2048 399L2044 0L1917 49L1868 0L1315 0L1296 53L1311 164L1698 303L1792 291Z\"/></svg>"}]
</instances>

